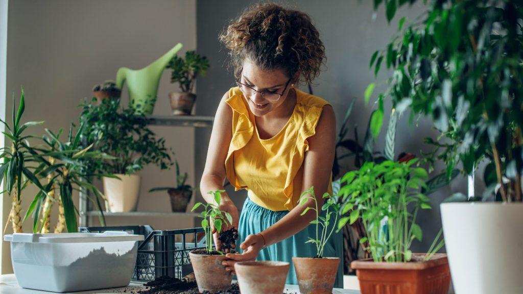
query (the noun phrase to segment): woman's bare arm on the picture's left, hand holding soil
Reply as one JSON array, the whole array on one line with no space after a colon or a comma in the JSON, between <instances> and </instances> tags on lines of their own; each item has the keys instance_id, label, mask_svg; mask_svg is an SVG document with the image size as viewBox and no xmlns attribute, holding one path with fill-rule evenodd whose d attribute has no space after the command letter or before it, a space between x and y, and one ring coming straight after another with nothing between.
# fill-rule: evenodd
<instances>
[{"instance_id":1,"label":"woman's bare arm on the picture's left, hand holding soil","mask_svg":"<svg viewBox=\"0 0 523 294\"><path fill-rule=\"evenodd\" d=\"M225 102L228 98L229 92L223 95L214 116L209 150L200 181L201 195L208 203L214 203L213 196L208 194L209 191L223 190L225 181L225 158L232 139L232 109ZM233 219L232 225L224 225L222 230L229 230L230 227L238 228L238 209L227 193L222 193L219 205L220 209L229 212ZM218 240L218 234L214 229L213 233L214 244L216 244L217 250L220 250L221 242Z\"/></svg>"}]
</instances>

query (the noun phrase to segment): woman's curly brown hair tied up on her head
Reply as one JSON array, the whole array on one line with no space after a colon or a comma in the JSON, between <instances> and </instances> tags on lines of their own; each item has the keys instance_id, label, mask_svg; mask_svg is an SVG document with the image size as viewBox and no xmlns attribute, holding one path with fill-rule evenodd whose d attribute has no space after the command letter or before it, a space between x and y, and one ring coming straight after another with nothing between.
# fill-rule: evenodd
<instances>
[{"instance_id":1,"label":"woman's curly brown hair tied up on her head","mask_svg":"<svg viewBox=\"0 0 523 294\"><path fill-rule=\"evenodd\" d=\"M311 84L325 61L325 46L311 18L276 4L256 4L221 33L236 76L243 61L263 70L285 70L289 77ZM297 81L297 82L298 82Z\"/></svg>"}]
</instances>

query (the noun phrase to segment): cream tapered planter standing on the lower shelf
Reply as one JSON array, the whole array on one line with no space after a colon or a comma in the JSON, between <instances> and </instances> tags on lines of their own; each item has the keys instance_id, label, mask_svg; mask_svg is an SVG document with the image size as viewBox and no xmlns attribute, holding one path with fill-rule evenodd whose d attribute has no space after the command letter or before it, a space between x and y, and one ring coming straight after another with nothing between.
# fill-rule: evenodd
<instances>
[{"instance_id":1,"label":"cream tapered planter standing on the lower shelf","mask_svg":"<svg viewBox=\"0 0 523 294\"><path fill-rule=\"evenodd\" d=\"M110 212L136 210L140 194L140 175L116 174L120 179L104 177L104 194L109 202Z\"/></svg>"}]
</instances>

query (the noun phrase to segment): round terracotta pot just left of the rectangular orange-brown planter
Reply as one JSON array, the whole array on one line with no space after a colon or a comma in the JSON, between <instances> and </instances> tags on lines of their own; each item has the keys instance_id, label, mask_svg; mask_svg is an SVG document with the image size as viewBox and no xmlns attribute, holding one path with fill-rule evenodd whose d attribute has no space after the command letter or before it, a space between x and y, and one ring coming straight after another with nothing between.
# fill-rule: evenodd
<instances>
[{"instance_id":1,"label":"round terracotta pot just left of the rectangular orange-brown planter","mask_svg":"<svg viewBox=\"0 0 523 294\"><path fill-rule=\"evenodd\" d=\"M302 294L331 294L338 271L338 257L292 257Z\"/></svg>"}]
</instances>

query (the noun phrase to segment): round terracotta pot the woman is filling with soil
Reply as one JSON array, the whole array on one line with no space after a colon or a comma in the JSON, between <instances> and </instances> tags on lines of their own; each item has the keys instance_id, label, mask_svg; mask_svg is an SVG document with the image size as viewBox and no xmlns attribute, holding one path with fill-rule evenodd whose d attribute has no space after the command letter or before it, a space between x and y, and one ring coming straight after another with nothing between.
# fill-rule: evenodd
<instances>
[{"instance_id":1,"label":"round terracotta pot the woman is filling with soil","mask_svg":"<svg viewBox=\"0 0 523 294\"><path fill-rule=\"evenodd\" d=\"M225 266L222 265L225 255L198 254L191 251L189 258L200 292L216 293L231 287L232 275L226 272Z\"/></svg>"}]
</instances>

